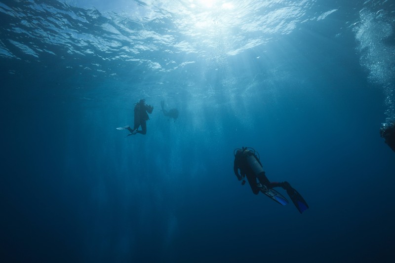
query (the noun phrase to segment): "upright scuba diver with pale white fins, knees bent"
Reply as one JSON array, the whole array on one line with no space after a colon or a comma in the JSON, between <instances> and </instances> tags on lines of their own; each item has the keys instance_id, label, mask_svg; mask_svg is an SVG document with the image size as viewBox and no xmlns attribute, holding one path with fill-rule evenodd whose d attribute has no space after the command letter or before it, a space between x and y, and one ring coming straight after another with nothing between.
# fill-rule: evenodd
<instances>
[{"instance_id":1,"label":"upright scuba diver with pale white fins, knees bent","mask_svg":"<svg viewBox=\"0 0 395 263\"><path fill-rule=\"evenodd\" d=\"M134 104L134 127L133 129L130 128L129 125L124 127L119 127L117 130L128 130L130 135L134 135L136 133L146 134L147 133L147 120L150 118L148 117L147 113L152 113L154 107L145 103L145 99L141 99L138 103ZM139 126L141 126L141 131L138 130Z\"/></svg>"}]
</instances>

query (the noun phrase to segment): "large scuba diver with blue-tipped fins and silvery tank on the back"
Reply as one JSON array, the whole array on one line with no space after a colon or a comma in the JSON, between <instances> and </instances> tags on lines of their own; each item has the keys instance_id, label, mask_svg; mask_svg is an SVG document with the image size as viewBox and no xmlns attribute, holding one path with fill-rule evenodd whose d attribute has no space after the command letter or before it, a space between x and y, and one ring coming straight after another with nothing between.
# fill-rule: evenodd
<instances>
[{"instance_id":1,"label":"large scuba diver with blue-tipped fins and silvery tank on the back","mask_svg":"<svg viewBox=\"0 0 395 263\"><path fill-rule=\"evenodd\" d=\"M244 185L244 177L246 176L254 194L258 194L261 191L276 202L285 205L288 203L288 200L286 200L286 198L279 192L272 189L275 187L282 187L287 191L287 194L301 214L309 208L309 205L306 203L305 199L303 199L302 195L292 188L288 182L284 181L282 183L278 183L270 182L268 180L259 160L259 153L254 149L242 147L241 149L235 149L233 154L235 155L233 170L238 181L243 180L241 184ZM258 154L258 156L256 154ZM240 174L238 173L238 170L240 170ZM259 183L257 182L257 179Z\"/></svg>"}]
</instances>

